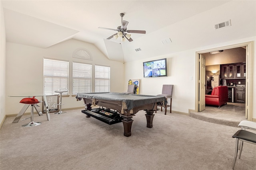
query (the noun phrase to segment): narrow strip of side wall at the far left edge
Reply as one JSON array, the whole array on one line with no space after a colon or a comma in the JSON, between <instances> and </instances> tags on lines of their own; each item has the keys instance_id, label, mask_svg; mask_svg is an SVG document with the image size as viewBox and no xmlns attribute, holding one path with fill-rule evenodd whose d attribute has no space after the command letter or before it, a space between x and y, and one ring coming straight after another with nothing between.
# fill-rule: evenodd
<instances>
[{"instance_id":1,"label":"narrow strip of side wall at the far left edge","mask_svg":"<svg viewBox=\"0 0 256 170\"><path fill-rule=\"evenodd\" d=\"M6 72L6 36L4 26L4 10L0 1L0 127L5 118L5 72Z\"/></svg>"}]
</instances>

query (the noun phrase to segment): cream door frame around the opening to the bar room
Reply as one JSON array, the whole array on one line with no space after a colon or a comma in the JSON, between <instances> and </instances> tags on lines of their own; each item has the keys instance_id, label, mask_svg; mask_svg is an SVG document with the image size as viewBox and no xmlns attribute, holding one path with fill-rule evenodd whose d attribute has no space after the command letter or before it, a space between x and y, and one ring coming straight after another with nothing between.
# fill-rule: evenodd
<instances>
[{"instance_id":1,"label":"cream door frame around the opening to the bar room","mask_svg":"<svg viewBox=\"0 0 256 170\"><path fill-rule=\"evenodd\" d=\"M225 49L232 49L237 47L244 47L246 46L246 102L245 102L245 113L246 118L248 121L252 121L252 41L246 43L239 43L235 45L228 45L224 47L218 47L214 49L207 49L203 51L196 52L196 100L195 100L195 111L199 111L199 79L200 79L200 72L199 72L199 56L202 53L209 53L210 51L218 51L218 50L225 50Z\"/></svg>"}]
</instances>

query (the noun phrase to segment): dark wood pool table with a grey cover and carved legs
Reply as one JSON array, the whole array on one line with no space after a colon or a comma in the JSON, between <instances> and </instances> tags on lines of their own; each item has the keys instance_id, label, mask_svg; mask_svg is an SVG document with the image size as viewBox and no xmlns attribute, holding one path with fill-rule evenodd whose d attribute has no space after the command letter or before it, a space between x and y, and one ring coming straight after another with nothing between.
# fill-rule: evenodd
<instances>
[{"instance_id":1,"label":"dark wood pool table with a grey cover and carved legs","mask_svg":"<svg viewBox=\"0 0 256 170\"><path fill-rule=\"evenodd\" d=\"M94 116L92 113L93 106L101 106L106 108L106 110L115 110L120 117L122 117L122 122L124 125L124 136L131 136L132 128L132 117L140 111L146 111L147 127L153 127L153 117L154 111L156 111L157 102L167 102L166 98L163 96L149 96L149 95L139 95L139 94L126 94L126 93L78 93L76 95L77 100L83 100L86 105L86 117L93 117L101 119L98 116ZM92 113L92 114L90 114ZM101 115L99 115L101 116Z\"/></svg>"}]
</instances>

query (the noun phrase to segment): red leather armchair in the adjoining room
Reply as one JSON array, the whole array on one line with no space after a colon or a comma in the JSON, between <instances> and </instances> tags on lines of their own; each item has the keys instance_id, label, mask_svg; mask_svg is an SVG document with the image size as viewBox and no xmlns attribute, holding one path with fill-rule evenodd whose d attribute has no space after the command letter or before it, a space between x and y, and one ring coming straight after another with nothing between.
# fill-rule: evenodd
<instances>
[{"instance_id":1,"label":"red leather armchair in the adjoining room","mask_svg":"<svg viewBox=\"0 0 256 170\"><path fill-rule=\"evenodd\" d=\"M212 89L212 94L205 95L205 104L220 106L227 104L228 102L228 87L216 86Z\"/></svg>"}]
</instances>

